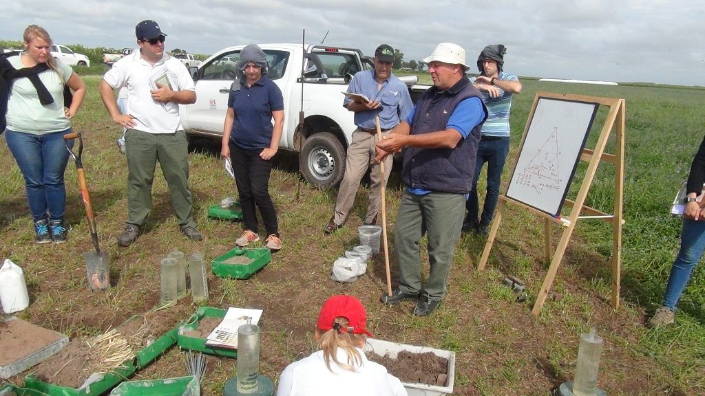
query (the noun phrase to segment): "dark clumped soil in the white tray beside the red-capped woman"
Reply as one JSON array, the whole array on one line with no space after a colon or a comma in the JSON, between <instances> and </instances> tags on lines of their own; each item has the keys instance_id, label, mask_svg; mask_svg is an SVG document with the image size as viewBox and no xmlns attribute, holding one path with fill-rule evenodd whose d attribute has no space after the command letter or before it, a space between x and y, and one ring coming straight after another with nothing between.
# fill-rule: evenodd
<instances>
[{"instance_id":1,"label":"dark clumped soil in the white tray beside the red-capped woman","mask_svg":"<svg viewBox=\"0 0 705 396\"><path fill-rule=\"evenodd\" d=\"M417 354L400 351L396 359L385 354L368 354L367 359L385 366L393 376L405 383L424 383L445 386L448 382L448 359L439 357L434 352Z\"/></svg>"}]
</instances>

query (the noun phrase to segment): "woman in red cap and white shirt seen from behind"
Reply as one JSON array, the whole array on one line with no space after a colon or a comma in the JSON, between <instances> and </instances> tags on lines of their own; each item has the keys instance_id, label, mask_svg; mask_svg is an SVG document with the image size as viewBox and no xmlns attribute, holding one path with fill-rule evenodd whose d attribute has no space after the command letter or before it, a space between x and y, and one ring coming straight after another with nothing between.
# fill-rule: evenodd
<instances>
[{"instance_id":1,"label":"woman in red cap and white shirt seen from behind","mask_svg":"<svg viewBox=\"0 0 705 396\"><path fill-rule=\"evenodd\" d=\"M329 298L318 316L316 342L320 350L289 364L279 377L278 396L404 396L401 381L384 366L367 360L362 347L367 313L360 300ZM331 364L332 362L332 364Z\"/></svg>"}]
</instances>

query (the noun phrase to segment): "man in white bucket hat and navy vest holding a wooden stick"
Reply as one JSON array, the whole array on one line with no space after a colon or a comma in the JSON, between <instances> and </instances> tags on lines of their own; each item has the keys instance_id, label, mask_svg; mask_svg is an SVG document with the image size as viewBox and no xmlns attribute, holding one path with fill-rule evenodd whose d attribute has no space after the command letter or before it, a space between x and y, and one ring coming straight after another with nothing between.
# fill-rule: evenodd
<instances>
[{"instance_id":1,"label":"man in white bucket hat and navy vest holding a wooden stick","mask_svg":"<svg viewBox=\"0 0 705 396\"><path fill-rule=\"evenodd\" d=\"M475 154L487 111L479 91L465 78L465 49L441 43L424 58L434 86L424 92L407 119L377 143L376 161L404 147L406 190L394 228L398 287L385 304L416 300L414 314L426 316L446 295L446 282L460 237ZM428 235L429 278L421 282L419 240Z\"/></svg>"}]
</instances>

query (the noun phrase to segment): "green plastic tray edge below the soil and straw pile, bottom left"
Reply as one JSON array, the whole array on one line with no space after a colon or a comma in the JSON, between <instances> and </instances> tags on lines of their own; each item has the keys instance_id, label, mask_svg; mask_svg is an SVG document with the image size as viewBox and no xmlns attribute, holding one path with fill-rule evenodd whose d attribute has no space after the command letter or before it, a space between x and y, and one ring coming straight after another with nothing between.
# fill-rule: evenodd
<instances>
[{"instance_id":1,"label":"green plastic tray edge below the soil and straw pile, bottom left","mask_svg":"<svg viewBox=\"0 0 705 396\"><path fill-rule=\"evenodd\" d=\"M49 396L97 396L102 395L118 383L123 382L129 376L132 376L137 371L137 357L123 362L123 366L114 369L109 373L105 373L102 380L94 382L82 389L68 388L65 386L45 383L34 375L30 374L25 377L25 386L33 390L39 390Z\"/></svg>"}]
</instances>

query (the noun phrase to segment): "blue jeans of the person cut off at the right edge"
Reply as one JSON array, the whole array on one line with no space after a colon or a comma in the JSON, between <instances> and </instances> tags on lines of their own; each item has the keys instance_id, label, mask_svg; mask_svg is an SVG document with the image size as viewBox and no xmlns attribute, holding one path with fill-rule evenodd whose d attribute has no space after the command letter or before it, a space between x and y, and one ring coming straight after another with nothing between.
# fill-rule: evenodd
<instances>
[{"instance_id":1,"label":"blue jeans of the person cut off at the right edge","mask_svg":"<svg viewBox=\"0 0 705 396\"><path fill-rule=\"evenodd\" d=\"M663 306L675 310L675 304L685 289L695 266L705 249L705 221L683 219L683 229L680 233L680 251L673 261L666 286L666 296Z\"/></svg>"}]
</instances>

